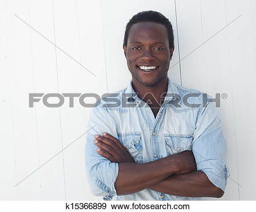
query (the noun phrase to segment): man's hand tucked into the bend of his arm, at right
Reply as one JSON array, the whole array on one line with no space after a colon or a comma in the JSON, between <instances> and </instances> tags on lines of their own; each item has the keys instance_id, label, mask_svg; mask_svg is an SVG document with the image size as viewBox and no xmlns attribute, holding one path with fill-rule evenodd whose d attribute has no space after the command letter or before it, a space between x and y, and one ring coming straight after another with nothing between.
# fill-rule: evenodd
<instances>
[{"instance_id":1,"label":"man's hand tucked into the bend of his arm, at right","mask_svg":"<svg viewBox=\"0 0 256 212\"><path fill-rule=\"evenodd\" d=\"M175 158L177 166L179 167L179 171L177 174L180 173L190 173L196 171L196 161L192 151L185 150L180 152L179 154L171 155Z\"/></svg>"}]
</instances>

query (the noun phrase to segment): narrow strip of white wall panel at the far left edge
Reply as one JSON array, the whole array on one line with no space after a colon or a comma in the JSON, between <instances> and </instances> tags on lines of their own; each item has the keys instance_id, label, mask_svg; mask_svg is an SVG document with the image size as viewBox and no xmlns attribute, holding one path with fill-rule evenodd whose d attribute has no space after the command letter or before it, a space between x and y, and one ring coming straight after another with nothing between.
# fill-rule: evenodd
<instances>
[{"instance_id":1,"label":"narrow strip of white wall panel at the far left edge","mask_svg":"<svg viewBox=\"0 0 256 212\"><path fill-rule=\"evenodd\" d=\"M9 66L10 6L0 2L0 200L17 200L15 182L15 154L10 104L11 70Z\"/></svg>"}]
</instances>

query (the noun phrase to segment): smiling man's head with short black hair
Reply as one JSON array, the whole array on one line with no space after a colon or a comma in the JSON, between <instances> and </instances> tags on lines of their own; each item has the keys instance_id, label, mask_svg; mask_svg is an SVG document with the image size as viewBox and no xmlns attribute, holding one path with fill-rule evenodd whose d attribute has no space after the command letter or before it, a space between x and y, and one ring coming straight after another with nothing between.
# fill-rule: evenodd
<instances>
[{"instance_id":1,"label":"smiling man's head with short black hair","mask_svg":"<svg viewBox=\"0 0 256 212\"><path fill-rule=\"evenodd\" d=\"M167 77L174 51L170 21L156 11L134 15L126 25L123 50L133 80L154 86Z\"/></svg>"}]
</instances>

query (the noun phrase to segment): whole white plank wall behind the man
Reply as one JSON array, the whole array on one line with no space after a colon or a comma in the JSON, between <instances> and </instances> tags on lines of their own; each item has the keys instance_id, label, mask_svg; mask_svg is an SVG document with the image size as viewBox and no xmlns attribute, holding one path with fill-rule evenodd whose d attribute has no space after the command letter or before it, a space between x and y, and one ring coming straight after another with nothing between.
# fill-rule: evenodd
<instances>
[{"instance_id":1,"label":"whole white plank wall behind the man","mask_svg":"<svg viewBox=\"0 0 256 212\"><path fill-rule=\"evenodd\" d=\"M100 200L85 176L90 108L29 108L28 93L125 87L125 26L143 10L171 20L174 82L228 94L218 108L231 174L221 200L256 200L254 0L1 0L0 200Z\"/></svg>"}]
</instances>

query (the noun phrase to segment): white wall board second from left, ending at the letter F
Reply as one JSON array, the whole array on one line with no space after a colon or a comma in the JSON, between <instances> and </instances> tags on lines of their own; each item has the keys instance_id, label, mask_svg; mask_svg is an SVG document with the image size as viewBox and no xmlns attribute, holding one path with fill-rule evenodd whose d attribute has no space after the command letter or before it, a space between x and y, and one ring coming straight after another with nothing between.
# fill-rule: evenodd
<instances>
[{"instance_id":1,"label":"white wall board second from left, ending at the letter F","mask_svg":"<svg viewBox=\"0 0 256 212\"><path fill-rule=\"evenodd\" d=\"M10 2L13 14L13 33L10 35L10 62L12 78L11 108L13 113L13 133L15 141L16 177L18 184L30 175L39 163L38 134L36 130L35 108L28 108L28 93L34 92L31 29L14 14L30 24L30 1ZM40 170L17 185L19 200L40 200Z\"/></svg>"}]
</instances>

